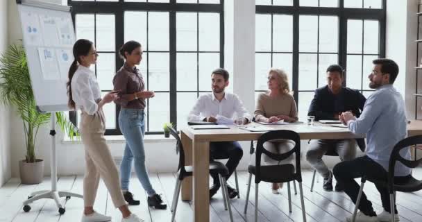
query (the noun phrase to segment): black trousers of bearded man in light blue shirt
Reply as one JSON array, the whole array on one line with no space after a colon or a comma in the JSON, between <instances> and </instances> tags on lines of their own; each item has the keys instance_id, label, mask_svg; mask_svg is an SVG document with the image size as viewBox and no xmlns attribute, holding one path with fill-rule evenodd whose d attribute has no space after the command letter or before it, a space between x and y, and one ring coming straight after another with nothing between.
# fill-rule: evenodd
<instances>
[{"instance_id":1,"label":"black trousers of bearded man in light blue shirt","mask_svg":"<svg viewBox=\"0 0 422 222\"><path fill-rule=\"evenodd\" d=\"M368 156L357 157L355 160L340 162L335 165L332 173L337 182L344 186L344 192L356 204L357 195L359 194L360 186L354 180L355 178L362 178L366 176L368 180L377 180L387 182L387 171L377 162L373 161ZM394 183L401 183L408 180L409 176L398 176L394 178ZM366 180L366 181L368 181ZM381 194L382 207L385 211L390 212L390 197L388 187L375 183L375 187ZM358 209L368 216L375 216L371 201L362 193ZM394 204L394 213L397 214L396 204Z\"/></svg>"}]
</instances>

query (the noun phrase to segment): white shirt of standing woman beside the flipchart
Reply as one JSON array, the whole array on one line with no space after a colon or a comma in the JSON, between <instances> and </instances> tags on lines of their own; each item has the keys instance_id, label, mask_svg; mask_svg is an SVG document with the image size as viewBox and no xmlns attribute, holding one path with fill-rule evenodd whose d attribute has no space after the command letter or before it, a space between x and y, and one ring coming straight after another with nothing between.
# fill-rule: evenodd
<instances>
[{"instance_id":1,"label":"white shirt of standing woman beside the flipchart","mask_svg":"<svg viewBox=\"0 0 422 222\"><path fill-rule=\"evenodd\" d=\"M81 108L87 114L93 115L98 110L97 101L101 100L101 91L94 72L79 65L71 79L71 95L76 108Z\"/></svg>"}]
</instances>

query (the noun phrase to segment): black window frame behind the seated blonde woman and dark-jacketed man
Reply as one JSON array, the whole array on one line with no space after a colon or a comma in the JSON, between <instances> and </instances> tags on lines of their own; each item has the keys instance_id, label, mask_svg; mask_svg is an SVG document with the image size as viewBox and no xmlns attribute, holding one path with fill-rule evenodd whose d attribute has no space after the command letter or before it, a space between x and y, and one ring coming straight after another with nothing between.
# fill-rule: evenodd
<instances>
[{"instance_id":1,"label":"black window frame behind the seated blonde woman and dark-jacketed man","mask_svg":"<svg viewBox=\"0 0 422 222\"><path fill-rule=\"evenodd\" d=\"M387 0L382 1L382 7L380 9L373 8L363 8L364 1L362 1L362 8L344 8L344 0L338 0L339 6L336 8L330 7L310 7L310 6L300 6L300 0L293 0L293 6L273 6L273 0L271 0L271 6L257 5L255 6L255 14L265 14L265 15L292 15L293 16L293 58L292 58L292 91L294 92L293 96L296 101L296 105L300 103L298 101L299 92L314 92L314 90L298 90L298 78L299 78L299 16L300 15L316 15L316 16L337 16L339 19L339 42L338 42L338 61L339 65L346 70L344 75L344 83L346 86L346 76L347 76L347 21L348 19L358 19L358 20L378 20L379 26L379 42L378 42L378 53L380 58L385 58L385 35L386 35L386 17L387 17ZM319 5L319 3L318 3ZM258 24L257 24L258 25ZM364 26L362 26L363 33ZM273 17L271 16L271 66L273 65L272 55L273 55ZM318 28L319 33L319 28ZM364 42L362 41L362 45ZM363 47L362 47L363 48ZM303 53L303 52L302 52ZM317 54L323 54L318 52ZM350 53L349 53L350 54ZM366 55L362 51L362 58ZM318 64L316 65L318 69ZM363 67L363 64L362 64ZM364 71L364 70L363 70ZM369 74L370 70L368 70ZM317 75L319 75L317 71ZM316 83L318 84L319 76L316 78ZM362 74L362 84L364 74ZM361 93L371 92L373 90L359 89ZM257 90L256 92L265 92L265 90Z\"/></svg>"}]
</instances>

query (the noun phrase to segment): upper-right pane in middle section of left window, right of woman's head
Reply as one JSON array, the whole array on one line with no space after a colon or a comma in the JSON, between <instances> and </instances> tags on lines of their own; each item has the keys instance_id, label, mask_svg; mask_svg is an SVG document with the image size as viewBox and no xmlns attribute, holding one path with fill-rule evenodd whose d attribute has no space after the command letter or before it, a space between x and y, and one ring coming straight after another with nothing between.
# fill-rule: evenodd
<instances>
[{"instance_id":1,"label":"upper-right pane in middle section of left window, right of woman's head","mask_svg":"<svg viewBox=\"0 0 422 222\"><path fill-rule=\"evenodd\" d=\"M148 12L149 51L169 51L169 12Z\"/></svg>"}]
</instances>

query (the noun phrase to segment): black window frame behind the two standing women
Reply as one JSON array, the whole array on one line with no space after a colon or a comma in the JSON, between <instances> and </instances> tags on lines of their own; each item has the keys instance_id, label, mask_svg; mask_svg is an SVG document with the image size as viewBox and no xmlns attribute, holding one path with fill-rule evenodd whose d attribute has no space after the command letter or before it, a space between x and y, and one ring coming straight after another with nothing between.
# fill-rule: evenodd
<instances>
[{"instance_id":1,"label":"black window frame behind the two standing women","mask_svg":"<svg viewBox=\"0 0 422 222\"><path fill-rule=\"evenodd\" d=\"M179 52L176 50L176 12L214 12L219 13L219 65L224 67L224 0L219 0L220 3L177 3L176 0L169 0L169 3L157 3L157 2L125 2L124 0L118 1L74 1L67 0L67 5L71 6L71 17L75 24L75 17L79 14L108 14L115 15L115 71L119 70L124 61L119 58L118 49L124 44L124 12L125 11L143 11L143 12L169 12L169 113L170 121L177 127L177 93L185 92L178 91L177 86L177 74L176 74L176 54ZM75 27L76 28L76 27ZM199 32L199 30L197 31ZM96 33L96 32L94 32ZM197 33L198 34L198 33ZM96 35L96 34L94 34ZM183 51L185 52L185 51ZM194 51L196 53L202 53L203 51ZM112 52L113 53L113 52ZM197 69L197 76L199 75L199 69ZM111 79L110 79L111 81ZM106 92L107 90L101 90ZM160 91L155 91L160 92ZM167 92L167 91L165 91ZM191 92L191 91L189 91ZM199 85L196 95L198 96L201 92L199 91ZM116 128L106 129L105 135L121 135L119 128L118 117L119 117L120 106L116 105ZM69 119L75 125L77 124L77 112L69 112ZM147 118L149 118L147 116ZM148 121L149 123L149 121ZM156 135L162 134L162 131L146 131L146 134Z\"/></svg>"}]
</instances>

